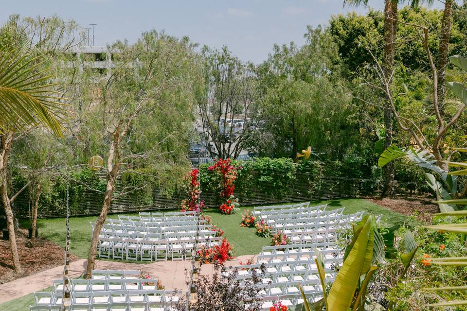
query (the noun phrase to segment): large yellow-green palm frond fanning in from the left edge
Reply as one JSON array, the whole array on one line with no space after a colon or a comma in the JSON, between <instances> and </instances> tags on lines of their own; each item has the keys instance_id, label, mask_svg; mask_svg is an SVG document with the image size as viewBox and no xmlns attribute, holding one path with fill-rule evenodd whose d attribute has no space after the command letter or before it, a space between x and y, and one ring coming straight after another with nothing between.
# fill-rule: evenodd
<instances>
[{"instance_id":1,"label":"large yellow-green palm frond fanning in from the left edge","mask_svg":"<svg viewBox=\"0 0 467 311\"><path fill-rule=\"evenodd\" d=\"M26 45L0 46L0 129L43 125L62 136L68 106L50 83L53 75Z\"/></svg>"}]
</instances>

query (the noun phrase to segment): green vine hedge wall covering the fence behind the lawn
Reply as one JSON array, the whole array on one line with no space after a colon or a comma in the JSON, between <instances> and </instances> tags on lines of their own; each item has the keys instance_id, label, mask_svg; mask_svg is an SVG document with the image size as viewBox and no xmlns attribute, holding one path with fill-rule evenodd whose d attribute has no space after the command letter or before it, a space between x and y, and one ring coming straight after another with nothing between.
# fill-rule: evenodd
<instances>
[{"instance_id":1,"label":"green vine hedge wall covering the fence behind the lawn","mask_svg":"<svg viewBox=\"0 0 467 311\"><path fill-rule=\"evenodd\" d=\"M371 190L360 180L363 177L368 178L364 176L368 167L359 157L333 162L300 161L298 164L289 158L256 158L254 161L232 163L240 167L234 195L242 205L350 197ZM208 166L200 166L201 197L206 201L207 207L216 207L220 183L215 174L207 170ZM178 208L183 199L181 187L178 190L167 191L160 187L154 178L146 179L148 177L145 176L150 173L145 170L144 176L137 173L123 174L117 181L117 192L127 186L140 187L144 183L147 183L147 186L143 190L115 199L110 212ZM103 172L84 169L73 173L72 177L93 188L105 189ZM180 181L179 185L181 184ZM14 185L19 189L24 185L24 180L15 178ZM39 200L39 217L64 216L66 187L67 180L60 176L43 187ZM69 194L71 215L92 215L100 212L103 197L99 193L70 182ZM14 206L18 218L30 215L30 201L27 191L18 196Z\"/></svg>"}]
</instances>

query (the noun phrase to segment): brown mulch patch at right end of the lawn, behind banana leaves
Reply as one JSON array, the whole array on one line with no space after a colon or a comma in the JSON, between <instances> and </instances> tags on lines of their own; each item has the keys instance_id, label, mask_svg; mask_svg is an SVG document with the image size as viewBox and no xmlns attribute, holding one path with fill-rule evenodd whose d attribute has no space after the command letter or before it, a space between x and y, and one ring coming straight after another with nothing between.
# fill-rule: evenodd
<instances>
[{"instance_id":1,"label":"brown mulch patch at right end of the lawn, behind banana leaves","mask_svg":"<svg viewBox=\"0 0 467 311\"><path fill-rule=\"evenodd\" d=\"M421 221L430 221L432 214L439 212L438 205L431 203L433 198L422 196L396 197L395 199L375 196L363 198L403 215L411 216L416 213L417 219Z\"/></svg>"}]
</instances>

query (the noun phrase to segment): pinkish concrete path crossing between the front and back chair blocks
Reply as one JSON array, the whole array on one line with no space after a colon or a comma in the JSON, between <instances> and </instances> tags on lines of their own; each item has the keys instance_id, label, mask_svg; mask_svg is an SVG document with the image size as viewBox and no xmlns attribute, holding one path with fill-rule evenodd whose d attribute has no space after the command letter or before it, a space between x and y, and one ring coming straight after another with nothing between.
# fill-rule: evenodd
<instances>
[{"instance_id":1,"label":"pinkish concrete path crossing between the front and back chair blocks","mask_svg":"<svg viewBox=\"0 0 467 311\"><path fill-rule=\"evenodd\" d=\"M228 266L238 265L240 261L246 262L253 255L239 256L226 262ZM96 269L111 270L141 270L150 276L161 280L165 289L187 290L187 272L191 270L191 260L156 261L149 264L127 263L119 261L96 260ZM69 274L72 278L81 276L86 271L87 260L80 259L70 263ZM213 265L202 266L201 274L212 275ZM18 278L14 281L0 284L0 303L22 297L33 292L39 292L52 286L52 280L63 277L63 266L45 270L30 276Z\"/></svg>"}]
</instances>

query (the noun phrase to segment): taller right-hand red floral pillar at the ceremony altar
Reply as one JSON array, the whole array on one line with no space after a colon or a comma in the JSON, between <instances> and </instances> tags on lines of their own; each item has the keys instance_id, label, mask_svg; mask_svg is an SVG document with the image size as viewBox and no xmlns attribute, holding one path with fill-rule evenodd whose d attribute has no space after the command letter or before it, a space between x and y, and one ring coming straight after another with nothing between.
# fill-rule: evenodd
<instances>
[{"instance_id":1,"label":"taller right-hand red floral pillar at the ceremony altar","mask_svg":"<svg viewBox=\"0 0 467 311\"><path fill-rule=\"evenodd\" d=\"M234 197L235 179L237 179L237 169L231 164L230 159L218 159L216 163L208 167L208 171L216 171L221 177L221 192L219 194L222 204L219 209L224 214L233 214L239 209L238 198Z\"/></svg>"}]
</instances>

